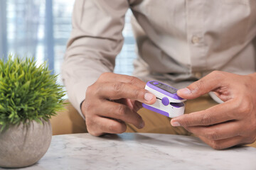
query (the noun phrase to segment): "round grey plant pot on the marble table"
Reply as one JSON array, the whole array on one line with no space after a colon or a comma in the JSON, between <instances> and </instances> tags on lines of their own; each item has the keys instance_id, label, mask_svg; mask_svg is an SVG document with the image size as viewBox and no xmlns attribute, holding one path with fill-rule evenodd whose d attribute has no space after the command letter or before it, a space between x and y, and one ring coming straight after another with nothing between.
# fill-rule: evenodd
<instances>
[{"instance_id":1,"label":"round grey plant pot on the marble table","mask_svg":"<svg viewBox=\"0 0 256 170\"><path fill-rule=\"evenodd\" d=\"M0 132L0 166L20 168L35 164L46 154L51 137L50 121L10 126Z\"/></svg>"}]
</instances>

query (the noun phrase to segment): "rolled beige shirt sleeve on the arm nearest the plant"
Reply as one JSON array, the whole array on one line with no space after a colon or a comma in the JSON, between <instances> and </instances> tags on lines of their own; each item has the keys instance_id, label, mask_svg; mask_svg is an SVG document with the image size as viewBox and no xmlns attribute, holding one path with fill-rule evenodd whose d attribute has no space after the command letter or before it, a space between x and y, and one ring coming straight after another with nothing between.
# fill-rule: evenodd
<instances>
[{"instance_id":1,"label":"rolled beige shirt sleeve on the arm nearest the plant","mask_svg":"<svg viewBox=\"0 0 256 170\"><path fill-rule=\"evenodd\" d=\"M122 49L127 0L77 0L73 29L62 65L62 79L70 103L78 110L87 87L103 72L113 72ZM84 118L84 115L82 115Z\"/></svg>"}]
</instances>

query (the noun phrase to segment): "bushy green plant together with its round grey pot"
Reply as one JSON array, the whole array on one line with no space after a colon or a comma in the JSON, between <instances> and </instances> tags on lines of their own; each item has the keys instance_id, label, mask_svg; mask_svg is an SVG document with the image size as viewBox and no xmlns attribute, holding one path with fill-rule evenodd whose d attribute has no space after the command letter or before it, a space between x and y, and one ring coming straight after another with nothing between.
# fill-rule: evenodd
<instances>
[{"instance_id":1,"label":"bushy green plant together with its round grey pot","mask_svg":"<svg viewBox=\"0 0 256 170\"><path fill-rule=\"evenodd\" d=\"M38 162L50 146L50 117L63 109L63 86L46 62L9 56L0 60L0 166Z\"/></svg>"}]
</instances>

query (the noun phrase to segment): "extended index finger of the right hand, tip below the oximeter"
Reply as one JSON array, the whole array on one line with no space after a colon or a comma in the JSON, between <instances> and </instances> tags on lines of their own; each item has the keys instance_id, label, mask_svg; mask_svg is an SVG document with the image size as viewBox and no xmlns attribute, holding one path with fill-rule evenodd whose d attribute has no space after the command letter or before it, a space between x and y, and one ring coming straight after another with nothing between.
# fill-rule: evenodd
<instances>
[{"instance_id":1,"label":"extended index finger of the right hand, tip below the oximeter","mask_svg":"<svg viewBox=\"0 0 256 170\"><path fill-rule=\"evenodd\" d=\"M237 110L232 101L218 104L205 111L198 111L185 115L178 116L171 120L173 126L199 126L199 125L214 125L223 123L228 120L239 119L242 115L237 114Z\"/></svg>"}]
</instances>

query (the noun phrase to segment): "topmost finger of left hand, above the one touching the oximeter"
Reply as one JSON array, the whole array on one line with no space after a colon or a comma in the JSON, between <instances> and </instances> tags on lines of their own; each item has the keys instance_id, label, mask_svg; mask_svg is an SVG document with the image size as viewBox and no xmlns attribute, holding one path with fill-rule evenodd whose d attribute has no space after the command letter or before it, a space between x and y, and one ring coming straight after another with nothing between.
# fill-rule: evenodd
<instances>
[{"instance_id":1,"label":"topmost finger of left hand, above the one touching the oximeter","mask_svg":"<svg viewBox=\"0 0 256 170\"><path fill-rule=\"evenodd\" d=\"M100 81L119 81L123 83L129 83L143 89L146 86L146 83L141 79L138 79L137 77L132 77L124 74L115 74L112 72L103 73L99 79Z\"/></svg>"}]
</instances>

